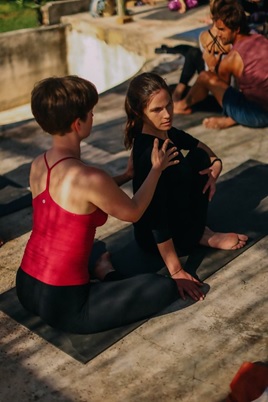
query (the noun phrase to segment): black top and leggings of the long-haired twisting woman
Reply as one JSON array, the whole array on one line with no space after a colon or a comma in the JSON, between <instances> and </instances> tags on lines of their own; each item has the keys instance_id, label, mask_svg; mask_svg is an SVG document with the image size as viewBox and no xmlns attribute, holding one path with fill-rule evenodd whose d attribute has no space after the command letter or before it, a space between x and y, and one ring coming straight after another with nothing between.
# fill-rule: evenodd
<instances>
[{"instance_id":1,"label":"black top and leggings of the long-haired twisting woman","mask_svg":"<svg viewBox=\"0 0 268 402\"><path fill-rule=\"evenodd\" d=\"M197 148L198 140L183 131L173 128L169 138L179 151L180 163L162 173L151 204L134 224L136 241L144 250L152 252L157 251L157 243L170 238L179 250L190 250L200 240L206 224L208 197L202 190L207 177L198 172L209 166L210 159L202 149ZM153 136L146 134L135 139L134 192L150 170L153 140ZM182 149L190 151L186 157Z\"/></svg>"}]
</instances>

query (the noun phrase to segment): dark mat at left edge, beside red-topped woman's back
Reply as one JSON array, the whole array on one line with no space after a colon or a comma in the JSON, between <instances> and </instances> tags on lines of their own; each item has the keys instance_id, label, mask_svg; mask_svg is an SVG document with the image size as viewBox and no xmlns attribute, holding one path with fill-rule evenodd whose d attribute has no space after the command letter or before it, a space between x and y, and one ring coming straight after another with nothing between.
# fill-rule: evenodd
<instances>
[{"instance_id":1,"label":"dark mat at left edge, beside red-topped woman's back","mask_svg":"<svg viewBox=\"0 0 268 402\"><path fill-rule=\"evenodd\" d=\"M31 203L32 194L27 188L0 176L0 216L29 207Z\"/></svg>"}]
</instances>

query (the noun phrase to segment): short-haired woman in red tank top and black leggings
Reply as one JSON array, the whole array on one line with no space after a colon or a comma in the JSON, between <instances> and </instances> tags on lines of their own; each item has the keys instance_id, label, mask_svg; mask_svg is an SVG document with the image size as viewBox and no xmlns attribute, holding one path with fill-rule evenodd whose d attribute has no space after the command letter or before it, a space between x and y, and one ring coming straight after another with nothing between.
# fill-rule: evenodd
<instances>
[{"instance_id":1,"label":"short-haired woman in red tank top and black leggings","mask_svg":"<svg viewBox=\"0 0 268 402\"><path fill-rule=\"evenodd\" d=\"M178 163L168 141L153 144L152 168L131 199L118 185L130 171L111 178L81 160L81 143L90 135L95 86L76 76L51 77L32 92L33 115L52 146L31 165L33 229L16 277L25 309L52 327L94 333L139 321L178 298L174 280L157 274L117 280L109 254L95 256L92 282L88 270L96 228L108 214L138 220L149 205L162 170ZM127 264L127 261L126 261ZM190 284L191 285L191 284Z\"/></svg>"}]
</instances>

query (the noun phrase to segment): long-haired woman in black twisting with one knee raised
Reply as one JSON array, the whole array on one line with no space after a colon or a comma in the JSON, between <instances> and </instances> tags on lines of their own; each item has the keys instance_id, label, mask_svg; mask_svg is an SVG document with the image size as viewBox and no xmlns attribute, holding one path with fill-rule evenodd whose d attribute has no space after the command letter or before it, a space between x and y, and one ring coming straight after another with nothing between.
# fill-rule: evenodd
<instances>
[{"instance_id":1,"label":"long-haired woman in black twisting with one knee raised","mask_svg":"<svg viewBox=\"0 0 268 402\"><path fill-rule=\"evenodd\" d=\"M183 270L179 255L198 244L236 250L247 241L243 234L213 232L206 226L208 202L215 193L222 162L206 144L172 127L172 94L159 75L136 76L130 82L125 109L125 146L133 148L134 192L150 170L156 137L160 144L168 138L170 146L177 147L180 161L163 172L147 211L134 224L136 241L143 249L160 253L183 298L186 292L201 300L200 282ZM186 156L182 150L188 151Z\"/></svg>"}]
</instances>

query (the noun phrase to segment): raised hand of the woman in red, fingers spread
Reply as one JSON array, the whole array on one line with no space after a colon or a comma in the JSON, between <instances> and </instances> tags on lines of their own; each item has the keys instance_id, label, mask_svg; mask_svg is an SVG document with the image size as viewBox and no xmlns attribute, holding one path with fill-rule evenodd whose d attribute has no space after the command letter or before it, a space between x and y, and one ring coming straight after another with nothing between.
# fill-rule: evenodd
<instances>
[{"instance_id":1,"label":"raised hand of the woman in red, fingers spread","mask_svg":"<svg viewBox=\"0 0 268 402\"><path fill-rule=\"evenodd\" d=\"M176 147L167 149L169 140L165 140L162 147L159 149L159 140L155 138L153 150L151 153L151 162L154 169L165 170L168 166L177 165L179 160L174 158L178 155Z\"/></svg>"}]
</instances>

